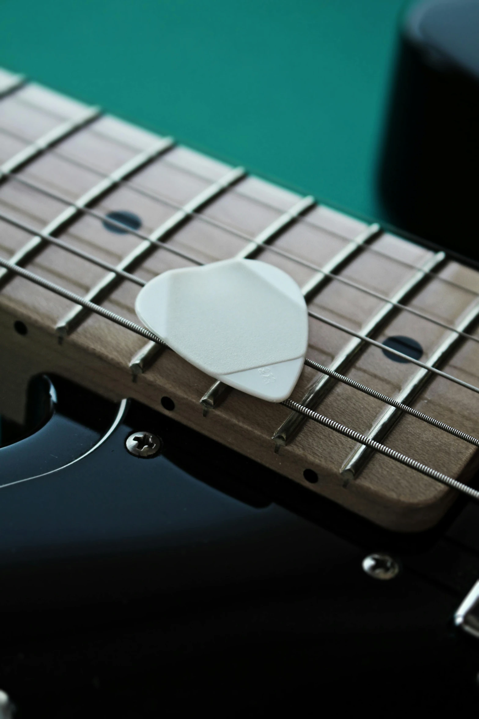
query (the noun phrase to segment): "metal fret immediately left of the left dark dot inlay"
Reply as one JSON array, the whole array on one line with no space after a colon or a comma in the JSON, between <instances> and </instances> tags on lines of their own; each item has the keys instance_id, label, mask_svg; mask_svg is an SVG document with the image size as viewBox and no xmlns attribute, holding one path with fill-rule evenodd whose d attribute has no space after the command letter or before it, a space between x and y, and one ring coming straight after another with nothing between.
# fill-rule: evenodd
<instances>
[{"instance_id":1,"label":"metal fret immediately left of the left dark dot inlay","mask_svg":"<svg viewBox=\"0 0 479 719\"><path fill-rule=\"evenodd\" d=\"M165 152L166 150L169 150L170 147L172 147L172 139L167 137L164 139L159 140L153 147L151 147L149 150L144 150L144 152L140 152L139 155L136 155L135 157L132 157L131 160L128 160L128 162L125 162L124 165L121 165L121 168L118 168L118 170L115 170L111 175L108 175L108 177L103 178L101 182L99 182L96 186L88 190L85 194L83 194L78 200L68 206L63 212L60 213L57 217L55 217L54 220L52 220L47 226L42 229L42 234L55 234L57 232L60 232L60 230L65 227L65 225L69 224L73 219L80 216L80 214L83 211L83 207L88 206L90 203L97 201L101 196L103 196L105 193L110 191L113 187L115 187L118 184L118 180L122 180L123 178L127 177L128 175L131 175L131 173L135 172L136 170L139 170L139 168L146 165L148 162L154 159L154 157L157 157L162 152ZM14 265L21 265L24 262L28 262L34 255L39 252L40 249L45 244L45 239L41 237L41 235L35 235L32 237L32 239L29 239L29 241L24 244L23 247L21 247L13 257L11 257L10 262L12 262ZM2 280L6 280L8 277L8 271L5 270L5 268L0 270L0 283Z\"/></svg>"}]
</instances>

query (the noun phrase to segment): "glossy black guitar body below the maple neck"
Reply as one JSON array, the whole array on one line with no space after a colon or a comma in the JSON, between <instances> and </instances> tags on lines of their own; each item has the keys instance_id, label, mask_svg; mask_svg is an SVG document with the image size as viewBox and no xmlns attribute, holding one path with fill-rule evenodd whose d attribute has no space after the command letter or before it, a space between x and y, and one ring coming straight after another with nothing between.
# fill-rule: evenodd
<instances>
[{"instance_id":1,"label":"glossy black guitar body below the maple neck","mask_svg":"<svg viewBox=\"0 0 479 719\"><path fill-rule=\"evenodd\" d=\"M0 686L19 718L478 704L479 643L452 622L477 506L388 533L174 416L31 383L32 434L0 449ZM130 454L137 431L161 452ZM375 551L396 577L363 571Z\"/></svg>"}]
</instances>

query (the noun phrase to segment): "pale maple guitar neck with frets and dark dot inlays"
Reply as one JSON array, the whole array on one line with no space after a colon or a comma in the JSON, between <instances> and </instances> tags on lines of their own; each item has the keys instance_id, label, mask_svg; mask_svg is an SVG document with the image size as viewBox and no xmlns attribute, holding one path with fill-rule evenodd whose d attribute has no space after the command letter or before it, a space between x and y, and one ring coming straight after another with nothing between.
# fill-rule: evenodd
<instances>
[{"instance_id":1,"label":"pale maple guitar neck with frets and dark dot inlays","mask_svg":"<svg viewBox=\"0 0 479 719\"><path fill-rule=\"evenodd\" d=\"M159 273L261 259L297 281L316 316L307 357L478 436L474 392L338 329L409 347L477 386L477 343L448 329L477 336L471 267L4 71L0 163L4 260L136 324L136 295ZM0 283L0 411L17 421L29 377L55 372L172 412L382 526L427 528L455 498L284 406L228 392L171 350L5 267ZM292 399L461 481L475 470L473 444L312 367Z\"/></svg>"}]
</instances>

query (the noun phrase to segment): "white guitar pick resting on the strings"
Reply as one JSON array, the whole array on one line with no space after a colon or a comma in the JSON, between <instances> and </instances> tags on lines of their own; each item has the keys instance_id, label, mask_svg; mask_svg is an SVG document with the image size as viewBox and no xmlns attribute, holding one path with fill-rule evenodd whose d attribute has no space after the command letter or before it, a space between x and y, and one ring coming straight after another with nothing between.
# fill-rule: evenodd
<instances>
[{"instance_id":1,"label":"white guitar pick resting on the strings","mask_svg":"<svg viewBox=\"0 0 479 719\"><path fill-rule=\"evenodd\" d=\"M141 322L207 375L271 402L289 397L307 350L297 283L258 260L169 270L136 298Z\"/></svg>"}]
</instances>

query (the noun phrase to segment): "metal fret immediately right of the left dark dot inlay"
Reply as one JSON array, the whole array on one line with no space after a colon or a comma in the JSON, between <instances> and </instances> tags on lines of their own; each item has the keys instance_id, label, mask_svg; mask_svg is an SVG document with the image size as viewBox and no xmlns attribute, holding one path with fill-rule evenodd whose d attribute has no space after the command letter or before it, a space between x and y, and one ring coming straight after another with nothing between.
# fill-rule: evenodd
<instances>
[{"instance_id":1,"label":"metal fret immediately right of the left dark dot inlay","mask_svg":"<svg viewBox=\"0 0 479 719\"><path fill-rule=\"evenodd\" d=\"M245 170L243 168L236 168L235 170L231 170L217 182L210 185L210 187L206 188L203 192L200 192L199 195L188 202L181 210L175 212L172 217L157 227L157 229L149 235L148 239L141 242L129 253L129 255L126 255L121 262L118 262L116 269L127 271L142 260L145 260L150 252L154 252L154 249L156 249L154 242L158 242L160 239L167 237L167 235L171 234L186 219L188 219L192 212L218 196L228 186L243 178L244 175ZM105 277L87 293L85 299L93 303L101 302L102 299L105 298L120 281L121 280L118 277L118 274L108 273L108 275L105 275ZM88 313L88 309L84 306L74 307L62 320L58 322L55 328L57 333L60 334L60 336L70 334L71 331L80 326L80 324L87 318Z\"/></svg>"}]
</instances>

